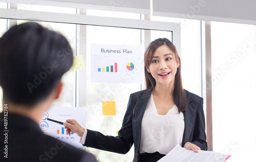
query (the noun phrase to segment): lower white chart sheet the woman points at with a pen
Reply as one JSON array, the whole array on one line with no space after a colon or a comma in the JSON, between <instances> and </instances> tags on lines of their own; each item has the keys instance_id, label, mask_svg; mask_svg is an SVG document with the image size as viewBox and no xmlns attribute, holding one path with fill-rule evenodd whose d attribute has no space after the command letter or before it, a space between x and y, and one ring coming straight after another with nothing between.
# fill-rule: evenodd
<instances>
[{"instance_id":1,"label":"lower white chart sheet the woman points at with a pen","mask_svg":"<svg viewBox=\"0 0 256 162\"><path fill-rule=\"evenodd\" d=\"M76 133L66 134L64 125L49 121L50 118L60 122L66 122L67 119L75 119L83 128L86 128L86 111L84 107L50 107L42 114L39 126L45 134L66 142L77 148L84 147L79 143L80 137Z\"/></svg>"}]
</instances>

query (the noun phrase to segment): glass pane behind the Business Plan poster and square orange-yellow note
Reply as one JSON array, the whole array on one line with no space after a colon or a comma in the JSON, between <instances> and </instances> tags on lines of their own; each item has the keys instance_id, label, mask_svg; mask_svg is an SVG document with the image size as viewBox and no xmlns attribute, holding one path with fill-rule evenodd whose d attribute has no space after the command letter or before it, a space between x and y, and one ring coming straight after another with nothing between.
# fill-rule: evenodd
<instances>
[{"instance_id":1,"label":"glass pane behind the Business Plan poster and square orange-yellow note","mask_svg":"<svg viewBox=\"0 0 256 162\"><path fill-rule=\"evenodd\" d=\"M87 78L85 81L88 129L117 136L130 94L141 90L140 84L91 83L91 44L141 45L140 37L141 30L87 25ZM143 56L143 53L140 55ZM116 101L115 116L102 115L102 101ZM132 161L134 156L134 148L125 155L93 148L87 149L96 154L100 161Z\"/></svg>"}]
</instances>

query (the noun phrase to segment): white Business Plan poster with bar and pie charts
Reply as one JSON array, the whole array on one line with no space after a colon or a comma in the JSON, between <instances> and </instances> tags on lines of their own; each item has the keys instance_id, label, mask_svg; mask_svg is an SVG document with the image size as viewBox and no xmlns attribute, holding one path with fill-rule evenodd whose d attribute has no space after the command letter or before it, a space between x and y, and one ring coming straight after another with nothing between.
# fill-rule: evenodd
<instances>
[{"instance_id":1,"label":"white Business Plan poster with bar and pie charts","mask_svg":"<svg viewBox=\"0 0 256 162\"><path fill-rule=\"evenodd\" d=\"M91 82L143 82L144 52L142 46L91 44Z\"/></svg>"}]
</instances>

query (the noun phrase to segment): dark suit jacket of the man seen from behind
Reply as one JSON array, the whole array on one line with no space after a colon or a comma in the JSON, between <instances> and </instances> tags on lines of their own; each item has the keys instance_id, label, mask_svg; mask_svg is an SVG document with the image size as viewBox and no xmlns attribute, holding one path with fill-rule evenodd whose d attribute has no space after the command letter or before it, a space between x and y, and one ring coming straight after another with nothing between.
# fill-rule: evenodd
<instances>
[{"instance_id":1,"label":"dark suit jacket of the man seen from behind","mask_svg":"<svg viewBox=\"0 0 256 162\"><path fill-rule=\"evenodd\" d=\"M91 153L42 133L38 124L25 116L8 113L7 118L8 132L4 131L3 120L0 122L0 161L97 161ZM4 157L5 148L8 158Z\"/></svg>"}]
</instances>

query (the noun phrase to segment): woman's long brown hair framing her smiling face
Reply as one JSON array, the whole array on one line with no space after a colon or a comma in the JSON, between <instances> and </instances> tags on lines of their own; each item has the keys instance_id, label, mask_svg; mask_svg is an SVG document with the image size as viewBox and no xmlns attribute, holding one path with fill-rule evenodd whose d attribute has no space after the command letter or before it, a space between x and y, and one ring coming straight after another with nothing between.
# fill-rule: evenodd
<instances>
[{"instance_id":1,"label":"woman's long brown hair framing her smiling face","mask_svg":"<svg viewBox=\"0 0 256 162\"><path fill-rule=\"evenodd\" d=\"M156 80L152 76L152 74L147 71L147 69L150 68L152 57L156 49L162 45L166 45L167 47L169 47L170 50L174 52L174 57L176 59L176 62L180 64L180 66L177 68L177 72L175 75L173 98L174 98L174 103L177 105L179 109L179 112L183 112L184 110L186 110L187 104L186 104L186 98L184 95L184 90L182 87L180 57L178 55L175 45L171 41L169 41L167 38L158 38L152 41L146 47L146 50L144 53L144 64L145 64L144 71L145 71L145 78L146 78L146 89L152 89L153 91L154 88L156 87Z\"/></svg>"}]
</instances>

